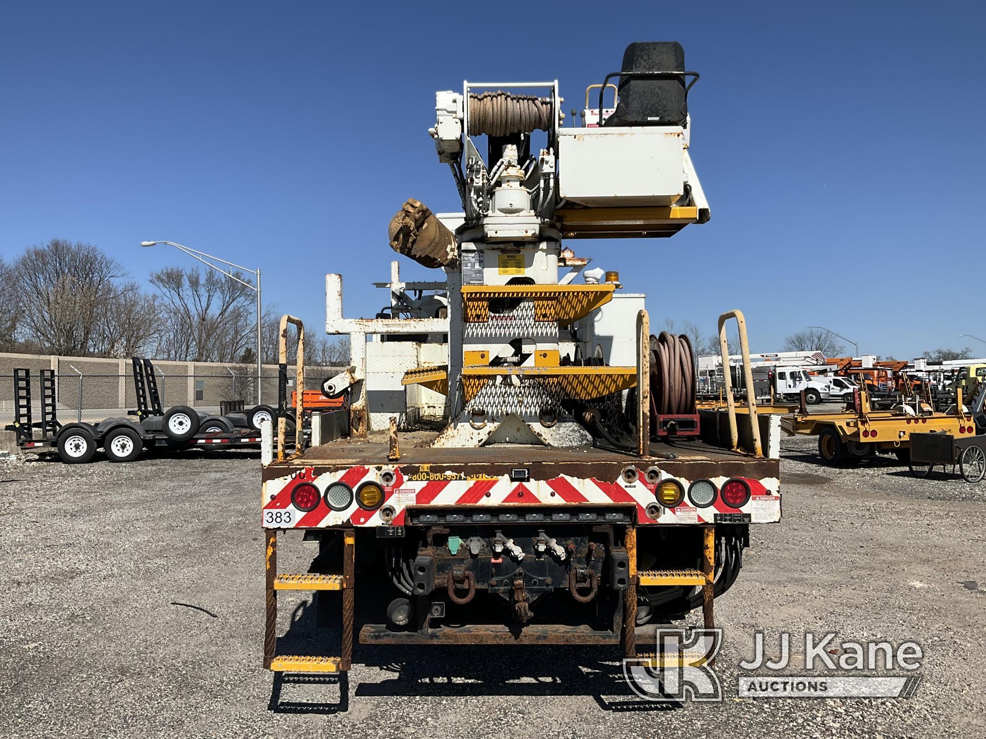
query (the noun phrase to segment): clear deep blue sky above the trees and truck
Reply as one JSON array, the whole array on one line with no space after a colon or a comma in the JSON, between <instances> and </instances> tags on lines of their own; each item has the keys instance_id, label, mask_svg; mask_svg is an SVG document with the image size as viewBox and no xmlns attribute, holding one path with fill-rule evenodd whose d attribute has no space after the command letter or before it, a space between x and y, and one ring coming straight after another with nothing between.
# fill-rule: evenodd
<instances>
[{"instance_id":1,"label":"clear deep blue sky above the trees and truck","mask_svg":"<svg viewBox=\"0 0 986 739\"><path fill-rule=\"evenodd\" d=\"M457 208L426 133L435 91L558 79L568 110L628 42L678 40L702 75L691 154L712 221L580 254L647 292L652 321L712 333L740 307L754 351L809 324L898 358L986 338L982 4L496 7L6 3L0 254L82 240L145 279L192 264L138 246L171 239L259 265L265 302L317 329L325 272L347 315L372 315L390 216L407 197Z\"/></svg>"}]
</instances>

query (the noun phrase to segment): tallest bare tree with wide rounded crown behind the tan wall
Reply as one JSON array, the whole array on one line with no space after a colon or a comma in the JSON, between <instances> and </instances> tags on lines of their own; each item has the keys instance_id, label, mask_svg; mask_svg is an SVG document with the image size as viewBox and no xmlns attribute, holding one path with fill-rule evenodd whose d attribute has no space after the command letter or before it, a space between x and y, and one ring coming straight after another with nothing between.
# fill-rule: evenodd
<instances>
[{"instance_id":1,"label":"tallest bare tree with wide rounded crown behind the tan wall","mask_svg":"<svg viewBox=\"0 0 986 739\"><path fill-rule=\"evenodd\" d=\"M87 355L102 342L106 310L137 290L126 271L97 246L53 238L14 263L18 328L51 354Z\"/></svg>"}]
</instances>

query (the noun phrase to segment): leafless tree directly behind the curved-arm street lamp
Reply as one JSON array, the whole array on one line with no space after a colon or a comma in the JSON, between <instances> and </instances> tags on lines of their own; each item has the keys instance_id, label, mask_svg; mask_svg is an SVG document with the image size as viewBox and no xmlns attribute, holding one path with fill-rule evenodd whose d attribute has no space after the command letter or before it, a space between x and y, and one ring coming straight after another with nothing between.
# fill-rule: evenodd
<instances>
[{"instance_id":1,"label":"leafless tree directly behind the curved-arm street lamp","mask_svg":"<svg viewBox=\"0 0 986 739\"><path fill-rule=\"evenodd\" d=\"M203 275L179 267L153 273L151 284L161 294L162 359L234 362L252 344L254 294L245 285L212 270Z\"/></svg>"}]
</instances>

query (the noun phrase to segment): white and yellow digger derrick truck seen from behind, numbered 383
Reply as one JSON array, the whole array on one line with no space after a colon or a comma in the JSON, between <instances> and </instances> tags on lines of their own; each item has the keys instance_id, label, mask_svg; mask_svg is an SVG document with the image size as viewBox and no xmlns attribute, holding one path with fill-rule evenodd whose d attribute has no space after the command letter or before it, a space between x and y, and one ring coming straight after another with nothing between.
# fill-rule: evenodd
<instances>
[{"instance_id":1,"label":"white and yellow digger derrick truck seen from behind, numbered 383","mask_svg":"<svg viewBox=\"0 0 986 739\"><path fill-rule=\"evenodd\" d=\"M437 94L429 133L461 211L408 200L388 236L440 279L404 282L394 262L377 316L344 318L342 278L327 275L326 329L352 357L322 392L348 394L349 435L328 440L314 419L321 443L287 456L282 399L265 437L265 667L348 670L357 635L633 655L656 620L701 608L713 624L750 525L780 520L779 418L752 393L738 414L729 386L725 408L698 410L687 338L651 335L644 296L568 245L708 221L689 157L697 78L677 43L633 43L587 91L586 125L569 127L556 81ZM719 321L724 366L732 318L752 386L739 310ZM303 386L290 316L282 374L289 323ZM292 530L318 556L282 573ZM315 591L320 623L341 611L341 645L282 653L285 590Z\"/></svg>"}]
</instances>

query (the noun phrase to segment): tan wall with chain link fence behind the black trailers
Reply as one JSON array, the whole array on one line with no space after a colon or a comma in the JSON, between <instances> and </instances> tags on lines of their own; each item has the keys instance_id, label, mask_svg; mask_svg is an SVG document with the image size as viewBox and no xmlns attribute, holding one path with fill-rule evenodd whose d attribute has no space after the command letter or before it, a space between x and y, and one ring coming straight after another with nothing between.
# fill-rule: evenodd
<instances>
[{"instance_id":1,"label":"tan wall with chain link fence behind the black trailers","mask_svg":"<svg viewBox=\"0 0 986 739\"><path fill-rule=\"evenodd\" d=\"M41 418L40 369L31 370L32 420ZM55 375L55 408L58 421L99 423L107 418L133 416L137 409L137 393L133 374L85 372L71 368ZM324 379L341 368L305 368L305 389L319 390ZM155 378L161 405L185 405L206 413L219 413L220 402L242 400L245 408L256 405L256 374L228 370L225 374L177 374L155 367ZM277 406L277 374L261 378L261 398L264 405ZM297 389L295 373L288 370L288 392ZM0 374L0 428L13 424L16 418L14 374Z\"/></svg>"}]
</instances>

